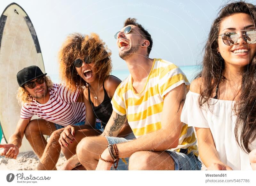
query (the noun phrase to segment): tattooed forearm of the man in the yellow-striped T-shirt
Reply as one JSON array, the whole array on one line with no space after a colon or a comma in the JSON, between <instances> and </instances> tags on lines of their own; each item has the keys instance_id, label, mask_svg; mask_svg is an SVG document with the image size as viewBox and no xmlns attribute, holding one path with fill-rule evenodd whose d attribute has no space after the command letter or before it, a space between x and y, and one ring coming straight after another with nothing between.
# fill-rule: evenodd
<instances>
[{"instance_id":1,"label":"tattooed forearm of the man in the yellow-striped T-shirt","mask_svg":"<svg viewBox=\"0 0 256 186\"><path fill-rule=\"evenodd\" d=\"M126 115L121 116L115 111L112 112L111 117L108 120L108 123L100 136L113 136L116 137L126 122Z\"/></svg>"}]
</instances>

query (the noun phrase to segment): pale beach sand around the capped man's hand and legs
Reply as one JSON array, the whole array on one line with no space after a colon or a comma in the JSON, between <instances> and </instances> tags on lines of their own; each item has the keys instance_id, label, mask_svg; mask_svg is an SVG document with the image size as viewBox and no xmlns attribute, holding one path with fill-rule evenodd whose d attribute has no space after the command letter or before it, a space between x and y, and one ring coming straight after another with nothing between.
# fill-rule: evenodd
<instances>
[{"instance_id":1,"label":"pale beach sand around the capped man's hand and legs","mask_svg":"<svg viewBox=\"0 0 256 186\"><path fill-rule=\"evenodd\" d=\"M5 141L2 139L1 144L4 143ZM60 169L65 161L66 158L61 153L56 168ZM33 151L21 152L18 154L17 159L7 159L4 156L0 156L0 170L36 170L38 163L39 159Z\"/></svg>"}]
</instances>

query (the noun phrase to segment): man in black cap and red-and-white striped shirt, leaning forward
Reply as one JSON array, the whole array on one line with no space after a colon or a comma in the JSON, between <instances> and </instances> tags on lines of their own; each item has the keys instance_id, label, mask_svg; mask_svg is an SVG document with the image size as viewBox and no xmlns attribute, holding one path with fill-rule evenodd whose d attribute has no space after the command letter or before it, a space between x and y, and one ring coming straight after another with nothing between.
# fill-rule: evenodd
<instances>
[{"instance_id":1,"label":"man in black cap and red-and-white striped shirt, leaning forward","mask_svg":"<svg viewBox=\"0 0 256 186\"><path fill-rule=\"evenodd\" d=\"M74 136L76 130L88 128L84 125L85 106L82 91L80 93L77 89L71 92L61 84L53 84L45 75L37 66L28 66L18 72L18 100L22 104L20 120L9 143L0 145L0 148L4 148L1 156L16 159L25 135L39 158L44 156L43 153L48 156L50 154L50 159L55 158L54 161L57 162L60 151L59 133L65 128ZM41 119L31 120L33 115ZM57 129L60 129L59 132ZM43 135L50 136L53 131L56 131L53 135L57 139L51 137L47 144ZM45 153L46 144L48 152ZM44 165L47 165L47 162L44 162Z\"/></svg>"}]
</instances>

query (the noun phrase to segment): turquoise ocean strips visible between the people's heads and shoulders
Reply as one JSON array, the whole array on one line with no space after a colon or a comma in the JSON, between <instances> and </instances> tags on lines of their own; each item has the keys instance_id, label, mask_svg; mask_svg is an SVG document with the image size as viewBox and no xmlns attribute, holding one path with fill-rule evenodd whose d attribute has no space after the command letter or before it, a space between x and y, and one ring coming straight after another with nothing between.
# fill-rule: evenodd
<instances>
[{"instance_id":1,"label":"turquoise ocean strips visible between the people's heads and shoulders","mask_svg":"<svg viewBox=\"0 0 256 186\"><path fill-rule=\"evenodd\" d=\"M189 82L191 82L196 74L200 71L200 66L194 65L194 66L179 66L182 72L187 76ZM128 69L123 70L113 70L112 75L118 77L120 80L124 80L126 77L128 77L130 74ZM52 81L54 83L60 83L60 78L58 74L47 74L51 77Z\"/></svg>"}]
</instances>

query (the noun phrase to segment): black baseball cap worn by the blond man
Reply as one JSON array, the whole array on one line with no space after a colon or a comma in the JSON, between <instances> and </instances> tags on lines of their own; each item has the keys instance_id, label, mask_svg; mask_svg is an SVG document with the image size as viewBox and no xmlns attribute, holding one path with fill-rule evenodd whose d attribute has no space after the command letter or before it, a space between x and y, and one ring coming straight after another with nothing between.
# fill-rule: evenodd
<instances>
[{"instance_id":1,"label":"black baseball cap worn by the blond man","mask_svg":"<svg viewBox=\"0 0 256 186\"><path fill-rule=\"evenodd\" d=\"M19 83L19 86L22 87L27 82L39 78L41 76L45 76L46 74L47 73L44 74L38 66L28 66L17 73L17 81Z\"/></svg>"}]
</instances>

